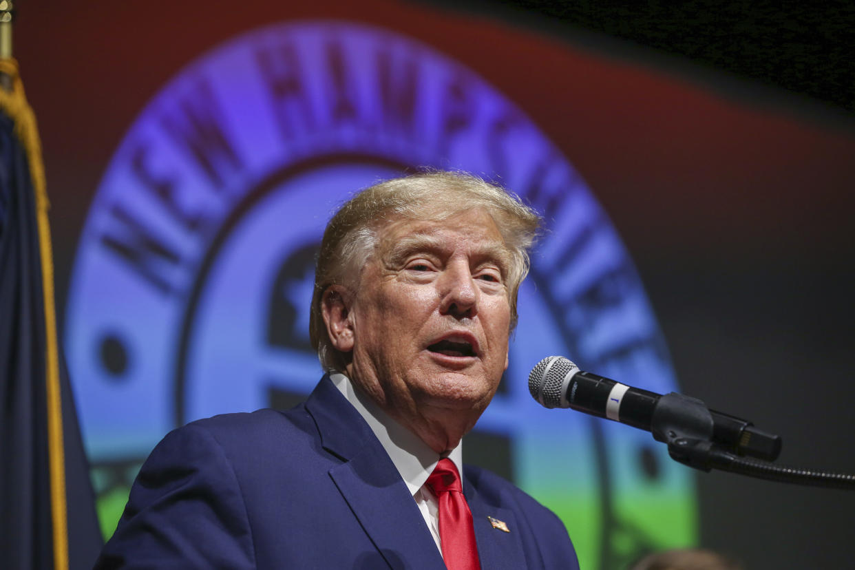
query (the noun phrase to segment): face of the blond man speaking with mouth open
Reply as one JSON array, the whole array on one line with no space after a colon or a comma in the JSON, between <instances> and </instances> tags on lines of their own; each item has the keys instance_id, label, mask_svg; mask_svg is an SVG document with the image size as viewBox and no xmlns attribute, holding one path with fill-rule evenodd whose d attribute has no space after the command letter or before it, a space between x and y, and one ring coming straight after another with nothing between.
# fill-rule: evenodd
<instances>
[{"instance_id":1,"label":"face of the blond man speaking with mouth open","mask_svg":"<svg viewBox=\"0 0 855 570\"><path fill-rule=\"evenodd\" d=\"M465 420L490 403L508 366L510 255L492 217L399 220L379 233L349 319L347 372L405 424Z\"/></svg>"}]
</instances>

